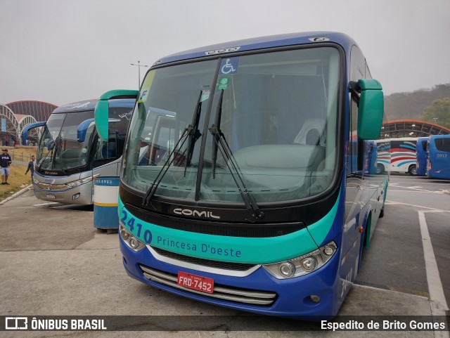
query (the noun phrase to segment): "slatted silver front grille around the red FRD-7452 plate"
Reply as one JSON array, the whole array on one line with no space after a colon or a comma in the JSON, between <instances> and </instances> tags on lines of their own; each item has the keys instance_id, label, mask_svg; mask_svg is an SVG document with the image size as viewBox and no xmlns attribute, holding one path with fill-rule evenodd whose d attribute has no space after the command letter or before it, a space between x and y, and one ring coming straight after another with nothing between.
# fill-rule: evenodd
<instances>
[{"instance_id":1,"label":"slatted silver front grille around the red FRD-7452 plate","mask_svg":"<svg viewBox=\"0 0 450 338\"><path fill-rule=\"evenodd\" d=\"M193 292L195 294L201 294L205 297L213 297L217 299L224 299L226 301L236 301L239 303L262 306L269 306L271 304L274 304L274 301L277 297L276 292L240 289L236 287L228 287L216 284L214 284L214 292L212 292L212 294L207 294L205 292L188 289L187 287L178 285L176 283L176 275L173 275L172 273L166 273L154 268L149 268L148 266L144 265L139 265L139 267L141 268L144 277L148 280L153 280L154 282L169 285L170 287L174 287L176 289Z\"/></svg>"}]
</instances>

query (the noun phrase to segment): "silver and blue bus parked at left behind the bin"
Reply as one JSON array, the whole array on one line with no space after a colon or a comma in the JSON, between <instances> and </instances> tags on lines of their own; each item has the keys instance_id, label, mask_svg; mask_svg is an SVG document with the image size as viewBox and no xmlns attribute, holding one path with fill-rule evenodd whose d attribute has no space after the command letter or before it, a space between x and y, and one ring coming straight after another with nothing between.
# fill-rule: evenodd
<instances>
[{"instance_id":1,"label":"silver and blue bus parked at left behind the bin","mask_svg":"<svg viewBox=\"0 0 450 338\"><path fill-rule=\"evenodd\" d=\"M119 176L134 98L110 100L105 117L109 132L105 141L94 126L97 100L62 105L43 126L33 176L39 200L65 204L92 204L97 176ZM30 130L27 128L25 133ZM23 135L23 138L26 134Z\"/></svg>"}]
</instances>

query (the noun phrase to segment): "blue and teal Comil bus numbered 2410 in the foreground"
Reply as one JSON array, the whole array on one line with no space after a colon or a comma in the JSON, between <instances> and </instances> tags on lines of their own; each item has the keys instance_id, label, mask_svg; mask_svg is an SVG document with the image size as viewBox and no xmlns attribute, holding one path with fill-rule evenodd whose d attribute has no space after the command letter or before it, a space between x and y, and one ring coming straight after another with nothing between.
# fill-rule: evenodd
<instances>
[{"instance_id":1,"label":"blue and teal Comil bus numbered 2410 in the foreground","mask_svg":"<svg viewBox=\"0 0 450 338\"><path fill-rule=\"evenodd\" d=\"M99 100L101 138L121 94ZM135 95L118 202L127 273L236 310L335 316L388 183L366 142L383 91L356 43L314 32L197 48L158 60Z\"/></svg>"}]
</instances>

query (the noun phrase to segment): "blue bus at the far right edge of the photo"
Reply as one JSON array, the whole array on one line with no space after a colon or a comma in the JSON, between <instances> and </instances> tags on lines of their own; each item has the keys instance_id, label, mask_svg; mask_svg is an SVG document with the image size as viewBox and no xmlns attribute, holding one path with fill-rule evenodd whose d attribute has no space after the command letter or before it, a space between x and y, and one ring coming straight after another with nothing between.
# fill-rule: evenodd
<instances>
[{"instance_id":1,"label":"blue bus at the far right edge of the photo","mask_svg":"<svg viewBox=\"0 0 450 338\"><path fill-rule=\"evenodd\" d=\"M427 141L428 178L450 179L450 135L432 135Z\"/></svg>"}]
</instances>

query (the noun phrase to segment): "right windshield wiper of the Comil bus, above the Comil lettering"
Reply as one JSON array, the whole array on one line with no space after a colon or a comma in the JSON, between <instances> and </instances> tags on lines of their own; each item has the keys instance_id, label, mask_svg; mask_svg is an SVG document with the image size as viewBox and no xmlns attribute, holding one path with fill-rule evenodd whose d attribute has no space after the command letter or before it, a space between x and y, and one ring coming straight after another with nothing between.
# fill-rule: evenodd
<instances>
[{"instance_id":1,"label":"right windshield wiper of the Comil bus, above the Comil lettering","mask_svg":"<svg viewBox=\"0 0 450 338\"><path fill-rule=\"evenodd\" d=\"M233 152L231 152L231 148L228 142L226 142L224 133L222 133L219 127L216 126L215 124L212 124L212 126L210 127L210 132L216 142L217 147L221 152L221 155L225 159L226 167L228 167L230 174L233 177L234 183L236 183L236 187L238 187L240 196L244 201L245 207L247 207L248 211L250 211L252 215L252 219L250 219L249 221L255 222L258 219L262 219L264 217L264 212L262 212L259 209L258 204L253 199L252 195L250 194L250 191L248 191L248 188L245 186L243 174L239 169L238 162L236 162Z\"/></svg>"}]
</instances>

